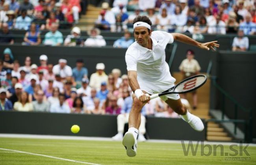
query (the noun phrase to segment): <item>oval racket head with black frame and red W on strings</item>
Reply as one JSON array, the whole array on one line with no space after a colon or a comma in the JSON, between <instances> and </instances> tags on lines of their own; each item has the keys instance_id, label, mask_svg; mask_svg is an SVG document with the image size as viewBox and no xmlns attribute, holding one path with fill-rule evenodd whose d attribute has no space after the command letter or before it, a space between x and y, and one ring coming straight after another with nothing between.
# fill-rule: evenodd
<instances>
[{"instance_id":1,"label":"oval racket head with black frame and red W on strings","mask_svg":"<svg viewBox=\"0 0 256 165\"><path fill-rule=\"evenodd\" d=\"M173 91L175 93L187 93L196 90L206 83L207 77L204 74L198 74L189 78L186 78L182 82L175 85Z\"/></svg>"}]
</instances>

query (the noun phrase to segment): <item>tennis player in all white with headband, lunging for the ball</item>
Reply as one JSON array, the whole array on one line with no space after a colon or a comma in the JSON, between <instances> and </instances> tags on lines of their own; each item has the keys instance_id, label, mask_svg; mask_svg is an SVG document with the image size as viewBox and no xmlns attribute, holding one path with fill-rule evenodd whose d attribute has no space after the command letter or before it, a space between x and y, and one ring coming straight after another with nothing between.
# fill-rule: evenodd
<instances>
[{"instance_id":1,"label":"tennis player in all white with headband, lunging for the ball","mask_svg":"<svg viewBox=\"0 0 256 165\"><path fill-rule=\"evenodd\" d=\"M128 70L128 80L134 94L132 110L129 115L129 129L125 133L122 144L128 156L137 154L137 135L141 123L141 109L150 100L153 93L161 93L174 86L175 78L171 76L169 66L165 62L165 47L173 43L174 39L182 43L191 44L205 50L215 50L219 47L217 41L198 43L180 33L167 33L151 30L152 22L143 15L135 17L135 42L126 51L125 60ZM180 117L190 126L202 131L204 124L201 119L187 111L180 101L178 94L161 96Z\"/></svg>"}]
</instances>

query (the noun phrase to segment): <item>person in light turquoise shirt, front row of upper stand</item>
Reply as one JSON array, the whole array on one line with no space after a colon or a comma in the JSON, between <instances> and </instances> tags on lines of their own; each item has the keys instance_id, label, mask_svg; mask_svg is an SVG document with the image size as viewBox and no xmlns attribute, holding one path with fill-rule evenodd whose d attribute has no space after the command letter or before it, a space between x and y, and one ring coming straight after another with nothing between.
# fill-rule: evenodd
<instances>
[{"instance_id":1,"label":"person in light turquoise shirt, front row of upper stand","mask_svg":"<svg viewBox=\"0 0 256 165\"><path fill-rule=\"evenodd\" d=\"M45 45L59 46L63 43L62 33L58 31L58 24L52 23L50 32L45 34Z\"/></svg>"}]
</instances>

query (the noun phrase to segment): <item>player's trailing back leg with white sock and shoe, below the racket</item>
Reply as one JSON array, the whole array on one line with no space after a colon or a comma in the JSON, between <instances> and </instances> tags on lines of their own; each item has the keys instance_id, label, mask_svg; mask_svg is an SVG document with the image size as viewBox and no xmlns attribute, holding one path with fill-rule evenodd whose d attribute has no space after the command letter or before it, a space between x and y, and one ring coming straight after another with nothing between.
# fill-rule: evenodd
<instances>
[{"instance_id":1,"label":"player's trailing back leg with white sock and shoe, below the racket","mask_svg":"<svg viewBox=\"0 0 256 165\"><path fill-rule=\"evenodd\" d=\"M204 130L204 123L202 122L202 120L189 113L189 111L187 110L186 106L184 106L181 102L180 99L178 100L173 100L168 98L167 100L165 100L165 102L176 112L180 115L180 117L186 121L187 123L189 123L189 125L196 131L202 131Z\"/></svg>"}]
</instances>

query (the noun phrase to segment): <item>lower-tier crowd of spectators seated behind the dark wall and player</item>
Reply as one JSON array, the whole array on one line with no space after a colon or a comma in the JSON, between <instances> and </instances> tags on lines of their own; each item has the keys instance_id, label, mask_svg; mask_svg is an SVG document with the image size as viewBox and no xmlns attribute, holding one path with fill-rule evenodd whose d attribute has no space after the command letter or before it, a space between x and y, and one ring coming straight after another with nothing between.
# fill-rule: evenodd
<instances>
[{"instance_id":1,"label":"lower-tier crowd of spectators seated behind the dark wall and player","mask_svg":"<svg viewBox=\"0 0 256 165\"><path fill-rule=\"evenodd\" d=\"M71 68L66 59L49 63L46 55L40 65L28 56L24 63L14 59L9 48L0 60L0 110L41 111L53 113L124 114L132 107L132 91L128 76L119 69L105 72L104 63L88 75L83 59ZM160 99L143 109L143 115L178 117Z\"/></svg>"}]
</instances>

